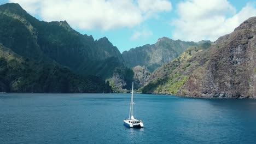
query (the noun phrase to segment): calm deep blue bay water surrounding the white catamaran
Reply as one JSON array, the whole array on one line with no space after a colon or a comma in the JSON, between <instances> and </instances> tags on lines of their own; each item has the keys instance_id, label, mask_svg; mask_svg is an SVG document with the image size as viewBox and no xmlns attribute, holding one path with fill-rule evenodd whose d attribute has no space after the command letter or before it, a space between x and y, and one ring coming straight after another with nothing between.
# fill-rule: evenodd
<instances>
[{"instance_id":1,"label":"calm deep blue bay water surrounding the white catamaran","mask_svg":"<svg viewBox=\"0 0 256 144\"><path fill-rule=\"evenodd\" d=\"M0 143L256 143L256 100L135 94L0 94Z\"/></svg>"}]
</instances>

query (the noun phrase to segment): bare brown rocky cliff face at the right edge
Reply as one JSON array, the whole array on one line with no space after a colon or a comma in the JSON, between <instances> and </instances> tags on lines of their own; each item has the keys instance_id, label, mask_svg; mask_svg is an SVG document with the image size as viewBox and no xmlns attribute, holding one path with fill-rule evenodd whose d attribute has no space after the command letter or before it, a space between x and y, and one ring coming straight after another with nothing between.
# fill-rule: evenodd
<instances>
[{"instance_id":1,"label":"bare brown rocky cliff face at the right edge","mask_svg":"<svg viewBox=\"0 0 256 144\"><path fill-rule=\"evenodd\" d=\"M220 37L202 71L195 71L180 95L255 98L256 17ZM205 72L203 72L205 71ZM201 75L201 79L196 77Z\"/></svg>"}]
</instances>

